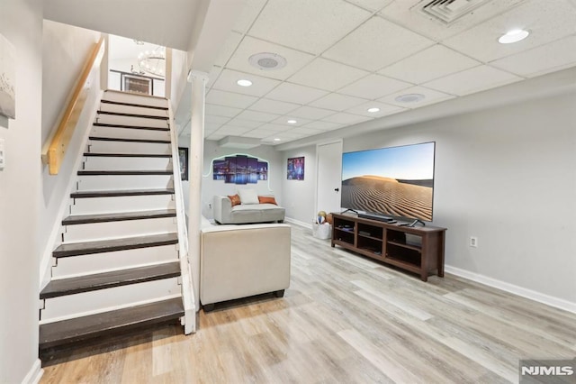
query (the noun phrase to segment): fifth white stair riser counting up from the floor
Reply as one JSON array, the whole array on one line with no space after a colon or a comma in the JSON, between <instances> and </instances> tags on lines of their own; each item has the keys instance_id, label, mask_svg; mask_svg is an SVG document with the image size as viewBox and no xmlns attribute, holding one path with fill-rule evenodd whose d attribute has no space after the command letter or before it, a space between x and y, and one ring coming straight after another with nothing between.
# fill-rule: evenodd
<instances>
[{"instance_id":1,"label":"fifth white stair riser counting up from the floor","mask_svg":"<svg viewBox=\"0 0 576 384\"><path fill-rule=\"evenodd\" d=\"M117 189L160 189L172 187L172 175L99 175L78 176L79 191L102 191Z\"/></svg>"}]
</instances>

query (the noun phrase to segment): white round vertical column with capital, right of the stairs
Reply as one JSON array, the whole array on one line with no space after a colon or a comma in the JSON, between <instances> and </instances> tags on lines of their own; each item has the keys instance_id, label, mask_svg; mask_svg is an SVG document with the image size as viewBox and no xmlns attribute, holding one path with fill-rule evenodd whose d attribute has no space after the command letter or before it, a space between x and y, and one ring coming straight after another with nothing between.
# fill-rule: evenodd
<instances>
[{"instance_id":1,"label":"white round vertical column with capital, right of the stairs","mask_svg":"<svg viewBox=\"0 0 576 384\"><path fill-rule=\"evenodd\" d=\"M200 310L200 229L202 223L202 159L204 157L204 95L208 74L192 71L192 116L190 119L190 211L188 212L188 253L193 278L196 310Z\"/></svg>"}]
</instances>

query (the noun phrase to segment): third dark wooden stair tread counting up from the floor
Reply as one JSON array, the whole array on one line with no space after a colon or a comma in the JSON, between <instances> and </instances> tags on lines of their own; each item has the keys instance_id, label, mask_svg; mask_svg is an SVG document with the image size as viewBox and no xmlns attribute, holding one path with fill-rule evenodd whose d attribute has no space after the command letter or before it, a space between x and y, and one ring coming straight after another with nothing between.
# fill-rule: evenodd
<instances>
[{"instance_id":1,"label":"third dark wooden stair tread counting up from the floor","mask_svg":"<svg viewBox=\"0 0 576 384\"><path fill-rule=\"evenodd\" d=\"M112 251L134 250L138 248L176 244L177 242L177 233L122 237L120 239L99 240L94 242L72 242L59 245L56 250L52 251L52 256L61 258Z\"/></svg>"}]
</instances>

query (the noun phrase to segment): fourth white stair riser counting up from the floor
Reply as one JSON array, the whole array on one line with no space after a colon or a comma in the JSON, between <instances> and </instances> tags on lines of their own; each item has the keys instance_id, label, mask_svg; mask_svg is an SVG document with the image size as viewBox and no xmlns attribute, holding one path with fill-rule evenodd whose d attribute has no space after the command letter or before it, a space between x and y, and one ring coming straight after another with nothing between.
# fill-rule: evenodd
<instances>
[{"instance_id":1,"label":"fourth white stair riser counting up from the floor","mask_svg":"<svg viewBox=\"0 0 576 384\"><path fill-rule=\"evenodd\" d=\"M125 197L76 198L70 206L70 215L94 215L113 212L175 209L173 195L145 195Z\"/></svg>"}]
</instances>

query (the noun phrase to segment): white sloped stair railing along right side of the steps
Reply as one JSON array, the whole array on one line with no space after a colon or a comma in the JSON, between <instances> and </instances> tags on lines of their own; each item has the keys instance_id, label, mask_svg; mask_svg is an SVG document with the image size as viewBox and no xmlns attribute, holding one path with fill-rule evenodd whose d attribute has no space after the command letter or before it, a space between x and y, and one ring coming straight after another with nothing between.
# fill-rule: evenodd
<instances>
[{"instance_id":1,"label":"white sloped stair railing along right side of the steps","mask_svg":"<svg viewBox=\"0 0 576 384\"><path fill-rule=\"evenodd\" d=\"M172 113L172 107L169 103L168 116L170 122L170 139L172 142L172 169L174 178L176 221L178 225L178 251L180 254L180 270L182 279L182 301L184 303L183 325L184 334L192 334L196 332L196 298L194 297L193 280L188 253L188 230L186 228L184 194L182 192L182 178L178 155L178 135L174 123L174 114Z\"/></svg>"}]
</instances>

